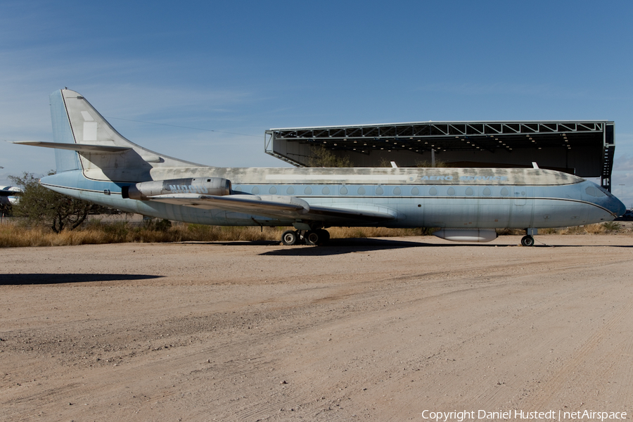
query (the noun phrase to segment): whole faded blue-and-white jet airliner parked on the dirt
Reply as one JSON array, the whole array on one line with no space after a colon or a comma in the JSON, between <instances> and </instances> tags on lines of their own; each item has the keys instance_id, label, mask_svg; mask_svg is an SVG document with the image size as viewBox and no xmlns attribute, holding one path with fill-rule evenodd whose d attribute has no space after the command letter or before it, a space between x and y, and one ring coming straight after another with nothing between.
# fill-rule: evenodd
<instances>
[{"instance_id":1,"label":"whole faded blue-and-white jet airliner parked on the dirt","mask_svg":"<svg viewBox=\"0 0 633 422\"><path fill-rule=\"evenodd\" d=\"M494 229L613 220L625 206L591 181L541 169L224 168L155 153L121 136L79 93L51 94L53 191L127 212L219 226L293 226L286 245L321 244L331 226L440 227L450 241Z\"/></svg>"}]
</instances>

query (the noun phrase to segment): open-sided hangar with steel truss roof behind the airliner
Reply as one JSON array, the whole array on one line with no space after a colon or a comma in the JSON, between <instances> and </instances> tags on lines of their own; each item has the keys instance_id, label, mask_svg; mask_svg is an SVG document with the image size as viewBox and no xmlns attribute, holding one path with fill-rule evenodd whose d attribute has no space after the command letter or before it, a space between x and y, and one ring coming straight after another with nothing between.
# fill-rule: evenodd
<instances>
[{"instance_id":1,"label":"open-sided hangar with steel truss roof behind the airliner","mask_svg":"<svg viewBox=\"0 0 633 422\"><path fill-rule=\"evenodd\" d=\"M309 167L315 148L326 148L354 167L432 165L532 167L600 177L610 191L613 122L409 122L269 129L264 149L297 167Z\"/></svg>"}]
</instances>

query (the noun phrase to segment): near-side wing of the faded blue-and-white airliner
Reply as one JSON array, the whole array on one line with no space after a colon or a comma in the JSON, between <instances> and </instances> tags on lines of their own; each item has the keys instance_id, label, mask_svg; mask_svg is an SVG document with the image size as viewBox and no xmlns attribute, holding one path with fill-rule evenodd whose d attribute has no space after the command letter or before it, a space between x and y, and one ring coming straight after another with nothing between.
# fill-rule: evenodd
<instances>
[{"instance_id":1,"label":"near-side wing of the faded blue-and-white airliner","mask_svg":"<svg viewBox=\"0 0 633 422\"><path fill-rule=\"evenodd\" d=\"M281 219L301 219L302 221L320 221L330 223L358 222L368 224L384 222L394 219L385 208L376 205L350 205L350 207L326 207L309 205L305 200L294 196L276 195L197 195L190 193L176 193L173 195L150 196L148 200L184 205L186 207L203 208L207 210L226 210L243 212L245 214Z\"/></svg>"}]
</instances>

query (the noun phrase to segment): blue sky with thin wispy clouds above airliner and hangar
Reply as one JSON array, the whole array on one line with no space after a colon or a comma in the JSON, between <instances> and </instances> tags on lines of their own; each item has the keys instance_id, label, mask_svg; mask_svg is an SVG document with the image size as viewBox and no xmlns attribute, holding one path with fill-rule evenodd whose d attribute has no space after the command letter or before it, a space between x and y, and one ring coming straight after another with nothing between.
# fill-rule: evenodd
<instances>
[{"instance_id":1,"label":"blue sky with thin wispy clouds above airliner and hangar","mask_svg":"<svg viewBox=\"0 0 633 422\"><path fill-rule=\"evenodd\" d=\"M50 141L68 87L131 141L217 166L284 166L272 127L614 120L630 207L632 22L631 1L0 0L0 184L53 168L3 141Z\"/></svg>"}]
</instances>

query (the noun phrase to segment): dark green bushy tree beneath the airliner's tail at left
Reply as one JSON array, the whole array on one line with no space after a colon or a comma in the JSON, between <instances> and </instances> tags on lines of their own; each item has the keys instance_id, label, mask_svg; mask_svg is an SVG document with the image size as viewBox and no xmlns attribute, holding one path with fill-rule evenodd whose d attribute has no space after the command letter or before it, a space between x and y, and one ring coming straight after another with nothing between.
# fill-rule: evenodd
<instances>
[{"instance_id":1,"label":"dark green bushy tree beneath the airliner's tail at left","mask_svg":"<svg viewBox=\"0 0 633 422\"><path fill-rule=\"evenodd\" d=\"M49 176L55 172L49 172ZM22 177L9 177L22 188L20 202L13 205L13 215L23 217L32 225L49 226L55 233L64 229L77 229L89 214L108 212L108 207L71 198L51 191L39 184L34 174L25 172Z\"/></svg>"}]
</instances>

